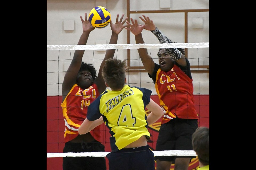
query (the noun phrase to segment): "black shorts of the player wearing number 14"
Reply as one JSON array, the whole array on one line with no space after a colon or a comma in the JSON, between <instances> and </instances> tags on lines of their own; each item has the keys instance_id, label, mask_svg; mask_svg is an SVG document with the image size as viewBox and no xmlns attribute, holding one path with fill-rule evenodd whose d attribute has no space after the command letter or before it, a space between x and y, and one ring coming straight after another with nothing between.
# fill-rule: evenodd
<instances>
[{"instance_id":1,"label":"black shorts of the player wearing number 14","mask_svg":"<svg viewBox=\"0 0 256 170\"><path fill-rule=\"evenodd\" d=\"M66 142L63 153L66 152L105 152L105 146L98 141L88 143ZM63 157L63 170L106 170L105 157L81 156Z\"/></svg>"}]
</instances>

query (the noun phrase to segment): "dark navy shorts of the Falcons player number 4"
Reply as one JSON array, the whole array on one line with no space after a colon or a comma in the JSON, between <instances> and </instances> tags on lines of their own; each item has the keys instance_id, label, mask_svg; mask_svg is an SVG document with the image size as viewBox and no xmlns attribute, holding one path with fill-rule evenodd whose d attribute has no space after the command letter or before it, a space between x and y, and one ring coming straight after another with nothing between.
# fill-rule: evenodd
<instances>
[{"instance_id":1,"label":"dark navy shorts of the Falcons player number 4","mask_svg":"<svg viewBox=\"0 0 256 170\"><path fill-rule=\"evenodd\" d=\"M155 170L154 153L148 145L110 152L106 157L110 170Z\"/></svg>"}]
</instances>

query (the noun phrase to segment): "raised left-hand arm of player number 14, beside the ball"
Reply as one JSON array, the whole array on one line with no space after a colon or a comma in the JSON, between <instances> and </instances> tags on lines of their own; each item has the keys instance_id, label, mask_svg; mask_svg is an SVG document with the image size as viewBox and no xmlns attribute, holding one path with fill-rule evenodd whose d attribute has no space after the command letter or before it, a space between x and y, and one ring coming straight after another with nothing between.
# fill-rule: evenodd
<instances>
[{"instance_id":1,"label":"raised left-hand arm of player number 14, beside the ball","mask_svg":"<svg viewBox=\"0 0 256 170\"><path fill-rule=\"evenodd\" d=\"M87 20L86 12L85 12L85 20L83 20L82 16L80 16L80 19L82 21L83 33L80 36L78 45L85 45L87 43L90 32L93 31L95 28L90 24L89 20ZM70 89L76 83L77 74L81 67L81 62L82 62L84 52L85 50L75 50L74 57L64 76L64 80L62 84L62 101L65 99Z\"/></svg>"}]
</instances>

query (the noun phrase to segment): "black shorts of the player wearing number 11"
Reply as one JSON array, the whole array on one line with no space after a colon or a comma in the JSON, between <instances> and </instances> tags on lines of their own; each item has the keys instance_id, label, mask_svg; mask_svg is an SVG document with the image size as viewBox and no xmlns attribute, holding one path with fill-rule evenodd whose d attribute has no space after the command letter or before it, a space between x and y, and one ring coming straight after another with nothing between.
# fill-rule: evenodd
<instances>
[{"instance_id":1,"label":"black shorts of the player wearing number 11","mask_svg":"<svg viewBox=\"0 0 256 170\"><path fill-rule=\"evenodd\" d=\"M174 118L162 124L157 138L156 151L193 150L192 134L198 128L197 119ZM175 158L196 158L196 156L155 156L155 160L173 162ZM190 161L191 161L190 159Z\"/></svg>"}]
</instances>

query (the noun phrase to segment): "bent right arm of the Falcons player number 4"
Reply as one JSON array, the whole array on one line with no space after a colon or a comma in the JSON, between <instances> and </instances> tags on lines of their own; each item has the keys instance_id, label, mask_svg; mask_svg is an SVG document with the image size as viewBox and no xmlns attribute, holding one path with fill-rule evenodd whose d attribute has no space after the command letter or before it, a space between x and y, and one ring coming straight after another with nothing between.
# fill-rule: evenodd
<instances>
[{"instance_id":1,"label":"bent right arm of the Falcons player number 4","mask_svg":"<svg viewBox=\"0 0 256 170\"><path fill-rule=\"evenodd\" d=\"M146 108L149 109L149 111L151 111L149 116L147 116L147 122L149 125L156 122L165 114L163 109L157 103L155 103L154 100L152 99L150 99L150 102L148 105L146 105Z\"/></svg>"}]
</instances>

